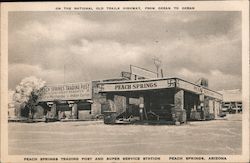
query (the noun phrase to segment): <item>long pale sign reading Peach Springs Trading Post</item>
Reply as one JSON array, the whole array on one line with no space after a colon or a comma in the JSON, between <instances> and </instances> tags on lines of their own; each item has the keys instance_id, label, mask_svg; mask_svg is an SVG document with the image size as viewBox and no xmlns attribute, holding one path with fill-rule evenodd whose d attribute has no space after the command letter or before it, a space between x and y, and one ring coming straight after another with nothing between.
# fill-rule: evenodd
<instances>
[{"instance_id":1,"label":"long pale sign reading Peach Springs Trading Post","mask_svg":"<svg viewBox=\"0 0 250 163\"><path fill-rule=\"evenodd\" d=\"M46 86L42 90L39 101L82 100L91 98L91 82L81 82Z\"/></svg>"}]
</instances>

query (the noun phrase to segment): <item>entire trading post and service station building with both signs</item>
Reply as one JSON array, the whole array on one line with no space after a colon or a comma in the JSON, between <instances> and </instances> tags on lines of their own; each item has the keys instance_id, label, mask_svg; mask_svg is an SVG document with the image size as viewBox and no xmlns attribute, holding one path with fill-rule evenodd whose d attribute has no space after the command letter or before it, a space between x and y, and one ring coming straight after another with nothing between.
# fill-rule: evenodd
<instances>
[{"instance_id":1,"label":"entire trading post and service station building with both signs","mask_svg":"<svg viewBox=\"0 0 250 163\"><path fill-rule=\"evenodd\" d=\"M45 86L38 101L34 119L182 123L216 118L222 95L179 78L121 78Z\"/></svg>"}]
</instances>

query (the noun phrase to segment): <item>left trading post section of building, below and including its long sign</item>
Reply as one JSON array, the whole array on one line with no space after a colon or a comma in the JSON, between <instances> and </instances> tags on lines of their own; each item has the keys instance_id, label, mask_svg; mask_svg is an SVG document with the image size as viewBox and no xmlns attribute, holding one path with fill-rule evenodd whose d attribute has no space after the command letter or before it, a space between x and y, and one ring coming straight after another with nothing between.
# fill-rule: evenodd
<instances>
[{"instance_id":1,"label":"left trading post section of building, below and including its long sign","mask_svg":"<svg viewBox=\"0 0 250 163\"><path fill-rule=\"evenodd\" d=\"M103 81L120 81L124 78ZM101 81L47 85L43 88L34 119L46 117L53 120L91 120L103 113L106 97L99 94Z\"/></svg>"}]
</instances>

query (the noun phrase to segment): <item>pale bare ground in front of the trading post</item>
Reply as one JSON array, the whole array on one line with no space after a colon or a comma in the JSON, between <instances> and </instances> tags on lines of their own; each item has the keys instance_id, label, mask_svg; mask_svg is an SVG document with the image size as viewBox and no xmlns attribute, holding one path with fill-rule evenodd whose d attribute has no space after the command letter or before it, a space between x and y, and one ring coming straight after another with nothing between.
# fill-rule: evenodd
<instances>
[{"instance_id":1,"label":"pale bare ground in front of the trading post","mask_svg":"<svg viewBox=\"0 0 250 163\"><path fill-rule=\"evenodd\" d=\"M9 123L9 154L234 155L241 153L241 126L241 115L181 126Z\"/></svg>"}]
</instances>

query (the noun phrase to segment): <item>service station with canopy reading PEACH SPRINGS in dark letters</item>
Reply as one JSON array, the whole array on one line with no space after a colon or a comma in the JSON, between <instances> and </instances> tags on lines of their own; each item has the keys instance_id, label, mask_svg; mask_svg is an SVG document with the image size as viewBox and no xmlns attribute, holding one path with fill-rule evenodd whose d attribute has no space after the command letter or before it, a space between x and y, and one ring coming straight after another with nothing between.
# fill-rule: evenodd
<instances>
[{"instance_id":1,"label":"service station with canopy reading PEACH SPRINGS in dark letters","mask_svg":"<svg viewBox=\"0 0 250 163\"><path fill-rule=\"evenodd\" d=\"M222 94L180 78L100 82L98 89L116 120L182 123L214 119L221 110Z\"/></svg>"}]
</instances>

